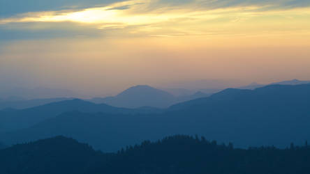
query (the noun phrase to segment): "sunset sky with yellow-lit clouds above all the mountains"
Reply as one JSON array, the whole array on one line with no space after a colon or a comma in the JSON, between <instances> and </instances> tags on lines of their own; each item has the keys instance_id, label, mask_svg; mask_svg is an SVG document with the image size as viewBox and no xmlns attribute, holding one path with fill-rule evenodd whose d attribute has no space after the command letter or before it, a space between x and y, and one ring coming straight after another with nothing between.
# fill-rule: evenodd
<instances>
[{"instance_id":1,"label":"sunset sky with yellow-lit clouds above all the mountains","mask_svg":"<svg viewBox=\"0 0 310 174\"><path fill-rule=\"evenodd\" d=\"M309 19L309 0L0 0L0 83L104 95L309 80Z\"/></svg>"}]
</instances>

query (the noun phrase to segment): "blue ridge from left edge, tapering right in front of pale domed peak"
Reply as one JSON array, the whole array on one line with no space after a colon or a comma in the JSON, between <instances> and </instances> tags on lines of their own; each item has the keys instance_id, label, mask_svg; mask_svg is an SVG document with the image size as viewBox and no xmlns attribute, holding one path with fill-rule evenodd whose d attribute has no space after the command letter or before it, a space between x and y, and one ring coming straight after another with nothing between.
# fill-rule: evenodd
<instances>
[{"instance_id":1,"label":"blue ridge from left edge, tapering right in front of pale domed peak","mask_svg":"<svg viewBox=\"0 0 310 174\"><path fill-rule=\"evenodd\" d=\"M53 102L43 106L36 106L29 109L5 109L0 111L0 132L22 129L35 125L38 122L53 118L68 111L82 111L87 113L153 113L160 112L160 109L124 109L109 106L107 104L94 104L84 100L66 100Z\"/></svg>"}]
</instances>

